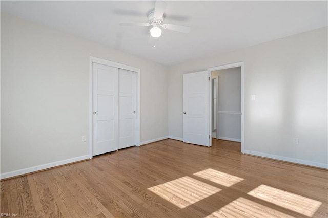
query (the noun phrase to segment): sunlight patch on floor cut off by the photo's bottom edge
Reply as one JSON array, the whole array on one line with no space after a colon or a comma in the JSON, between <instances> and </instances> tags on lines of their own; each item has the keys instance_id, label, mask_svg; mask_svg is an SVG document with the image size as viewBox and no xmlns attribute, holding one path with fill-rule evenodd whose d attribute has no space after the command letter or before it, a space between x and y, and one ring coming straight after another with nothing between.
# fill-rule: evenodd
<instances>
[{"instance_id":1,"label":"sunlight patch on floor cut off by the photo's bottom edge","mask_svg":"<svg viewBox=\"0 0 328 218\"><path fill-rule=\"evenodd\" d=\"M206 216L213 217L293 217L245 198L238 198Z\"/></svg>"}]
</instances>

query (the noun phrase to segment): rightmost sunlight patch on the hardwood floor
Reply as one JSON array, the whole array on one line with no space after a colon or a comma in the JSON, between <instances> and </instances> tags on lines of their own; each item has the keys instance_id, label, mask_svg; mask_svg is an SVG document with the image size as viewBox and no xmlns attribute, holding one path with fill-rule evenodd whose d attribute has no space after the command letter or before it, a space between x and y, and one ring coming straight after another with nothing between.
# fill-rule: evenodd
<instances>
[{"instance_id":1,"label":"rightmost sunlight patch on the hardwood floor","mask_svg":"<svg viewBox=\"0 0 328 218\"><path fill-rule=\"evenodd\" d=\"M248 194L306 216L313 216L322 204L319 201L267 185L260 185Z\"/></svg>"}]
</instances>

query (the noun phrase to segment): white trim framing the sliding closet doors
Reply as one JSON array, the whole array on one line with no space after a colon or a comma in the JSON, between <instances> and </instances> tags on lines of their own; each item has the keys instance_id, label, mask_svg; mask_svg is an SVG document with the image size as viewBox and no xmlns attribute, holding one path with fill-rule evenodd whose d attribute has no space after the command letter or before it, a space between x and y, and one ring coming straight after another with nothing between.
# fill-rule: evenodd
<instances>
[{"instance_id":1,"label":"white trim framing the sliding closet doors","mask_svg":"<svg viewBox=\"0 0 328 218\"><path fill-rule=\"evenodd\" d=\"M111 67L125 69L137 73L137 93L136 93L136 146L140 146L140 69L131 67L122 63L116 63L113 61L92 57L90 56L89 62L89 158L92 158L93 154L93 118L92 118L92 105L93 105L93 83L92 83L92 63L100 63Z\"/></svg>"}]
</instances>

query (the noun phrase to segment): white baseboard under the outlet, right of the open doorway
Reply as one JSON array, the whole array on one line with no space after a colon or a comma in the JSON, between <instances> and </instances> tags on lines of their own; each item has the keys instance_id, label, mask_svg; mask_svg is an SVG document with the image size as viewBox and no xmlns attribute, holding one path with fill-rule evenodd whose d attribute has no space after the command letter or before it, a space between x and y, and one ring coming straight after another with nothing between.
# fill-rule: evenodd
<instances>
[{"instance_id":1,"label":"white baseboard under the outlet, right of the open doorway","mask_svg":"<svg viewBox=\"0 0 328 218\"><path fill-rule=\"evenodd\" d=\"M256 156L260 156L260 157L264 157L264 158L272 158L272 159L276 159L276 160L280 160L280 161L287 161L287 162L292 162L292 163L298 163L298 164L328 169L328 164L325 164L325 163L306 161L306 160L301 160L301 159L296 159L296 158L288 158L288 157L279 156L279 155L271 155L271 154L252 151L252 150L245 150L245 154L256 155Z\"/></svg>"}]
</instances>

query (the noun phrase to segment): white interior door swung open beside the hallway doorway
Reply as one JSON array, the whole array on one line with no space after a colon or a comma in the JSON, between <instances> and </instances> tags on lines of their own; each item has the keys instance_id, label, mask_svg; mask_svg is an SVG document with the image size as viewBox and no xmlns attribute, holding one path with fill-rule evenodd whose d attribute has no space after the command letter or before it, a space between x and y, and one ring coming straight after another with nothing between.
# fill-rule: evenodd
<instances>
[{"instance_id":1,"label":"white interior door swung open beside the hallway doorway","mask_svg":"<svg viewBox=\"0 0 328 218\"><path fill-rule=\"evenodd\" d=\"M183 142L210 146L208 71L183 74Z\"/></svg>"}]
</instances>

